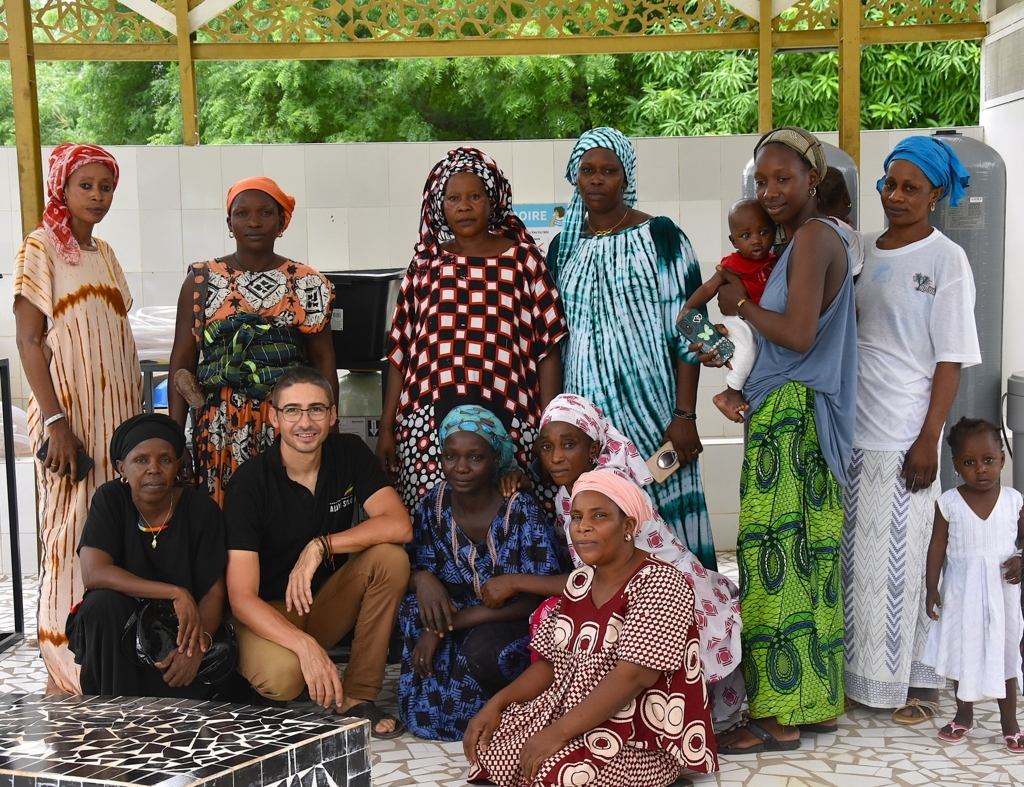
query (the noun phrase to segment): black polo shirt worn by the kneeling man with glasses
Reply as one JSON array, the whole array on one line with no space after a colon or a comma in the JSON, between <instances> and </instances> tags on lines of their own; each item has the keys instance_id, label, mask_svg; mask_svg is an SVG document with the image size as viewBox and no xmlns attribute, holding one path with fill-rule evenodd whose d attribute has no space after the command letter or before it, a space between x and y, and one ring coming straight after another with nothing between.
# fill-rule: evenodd
<instances>
[{"instance_id":1,"label":"black polo shirt worn by the kneeling man with glasses","mask_svg":"<svg viewBox=\"0 0 1024 787\"><path fill-rule=\"evenodd\" d=\"M280 437L240 467L227 485L227 549L259 553L259 597L264 601L285 598L288 575L310 540L350 528L356 504L390 485L380 462L355 435L330 434L323 451L315 494L288 477ZM333 567L316 570L313 593L345 559L337 555Z\"/></svg>"}]
</instances>

